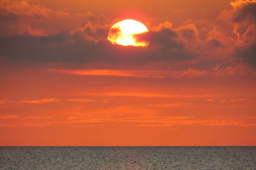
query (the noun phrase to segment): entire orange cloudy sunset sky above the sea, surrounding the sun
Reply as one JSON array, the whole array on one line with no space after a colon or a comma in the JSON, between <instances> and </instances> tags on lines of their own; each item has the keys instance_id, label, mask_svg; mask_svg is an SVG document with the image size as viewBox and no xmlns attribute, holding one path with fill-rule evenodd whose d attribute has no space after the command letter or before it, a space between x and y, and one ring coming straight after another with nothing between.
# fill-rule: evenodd
<instances>
[{"instance_id":1,"label":"entire orange cloudy sunset sky above the sea, surrounding the sun","mask_svg":"<svg viewBox=\"0 0 256 170\"><path fill-rule=\"evenodd\" d=\"M1 146L255 146L256 1L0 0ZM145 24L147 47L111 26Z\"/></svg>"}]
</instances>

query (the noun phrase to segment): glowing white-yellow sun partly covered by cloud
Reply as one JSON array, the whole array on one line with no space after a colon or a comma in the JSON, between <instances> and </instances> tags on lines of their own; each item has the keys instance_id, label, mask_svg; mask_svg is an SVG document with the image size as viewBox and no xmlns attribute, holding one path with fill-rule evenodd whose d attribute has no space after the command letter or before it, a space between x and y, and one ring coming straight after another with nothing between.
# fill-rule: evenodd
<instances>
[{"instance_id":1,"label":"glowing white-yellow sun partly covered by cloud","mask_svg":"<svg viewBox=\"0 0 256 170\"><path fill-rule=\"evenodd\" d=\"M145 47L148 43L138 41L134 35L146 32L148 32L148 29L141 22L132 19L125 19L117 22L111 27L108 33L108 40L111 43L118 45Z\"/></svg>"}]
</instances>

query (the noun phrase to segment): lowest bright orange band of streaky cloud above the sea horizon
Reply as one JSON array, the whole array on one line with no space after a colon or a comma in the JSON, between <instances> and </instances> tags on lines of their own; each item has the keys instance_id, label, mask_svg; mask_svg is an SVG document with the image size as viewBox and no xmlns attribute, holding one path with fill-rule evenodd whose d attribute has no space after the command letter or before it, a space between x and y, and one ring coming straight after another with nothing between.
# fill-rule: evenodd
<instances>
[{"instance_id":1,"label":"lowest bright orange band of streaky cloud above the sea horizon","mask_svg":"<svg viewBox=\"0 0 256 170\"><path fill-rule=\"evenodd\" d=\"M25 117L24 119L38 119L41 117ZM191 116L138 116L125 117L108 116L101 114L93 115L73 115L68 116L66 120L52 122L30 122L0 124L0 127L47 127L47 126L70 126L86 125L88 123L132 123L139 127L177 127L177 126L237 126L237 127L255 127L255 123L245 123L233 120L198 120Z\"/></svg>"}]
</instances>

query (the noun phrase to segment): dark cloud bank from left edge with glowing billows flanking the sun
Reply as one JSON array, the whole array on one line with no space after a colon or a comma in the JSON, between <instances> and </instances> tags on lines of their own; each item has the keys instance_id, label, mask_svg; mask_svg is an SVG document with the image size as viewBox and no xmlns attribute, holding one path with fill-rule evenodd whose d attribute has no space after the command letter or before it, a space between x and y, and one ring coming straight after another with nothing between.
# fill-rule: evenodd
<instances>
[{"instance_id":1,"label":"dark cloud bank from left edge with glowing billows flanking the sun","mask_svg":"<svg viewBox=\"0 0 256 170\"><path fill-rule=\"evenodd\" d=\"M26 6L28 10L32 8L29 4ZM30 16L28 14L30 12L16 13ZM111 44L107 40L111 27L109 24L93 24L88 21L84 26L53 35L44 34L42 30L33 30L30 26L22 26L26 28L26 33L0 36L0 56L3 56L1 61L140 64L192 58L184 44L178 40L179 33L170 27L170 22L160 24L156 30L138 37L140 40L150 42L148 47L124 47Z\"/></svg>"}]
</instances>

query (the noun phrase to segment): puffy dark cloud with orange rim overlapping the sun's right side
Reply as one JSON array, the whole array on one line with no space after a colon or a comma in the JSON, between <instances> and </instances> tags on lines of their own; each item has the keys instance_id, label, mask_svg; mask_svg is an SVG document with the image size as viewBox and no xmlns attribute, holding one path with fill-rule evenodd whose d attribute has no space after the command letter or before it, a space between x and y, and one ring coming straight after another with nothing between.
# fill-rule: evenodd
<instances>
[{"instance_id":1,"label":"puffy dark cloud with orange rim overlapping the sun's right side","mask_svg":"<svg viewBox=\"0 0 256 170\"><path fill-rule=\"evenodd\" d=\"M184 35L186 38L187 35ZM191 36L191 35L189 35ZM147 58L152 60L172 61L193 59L184 42L180 40L179 31L172 27L171 22L163 22L159 26L152 27L147 33L136 36L140 42L148 42L150 54Z\"/></svg>"}]
</instances>

